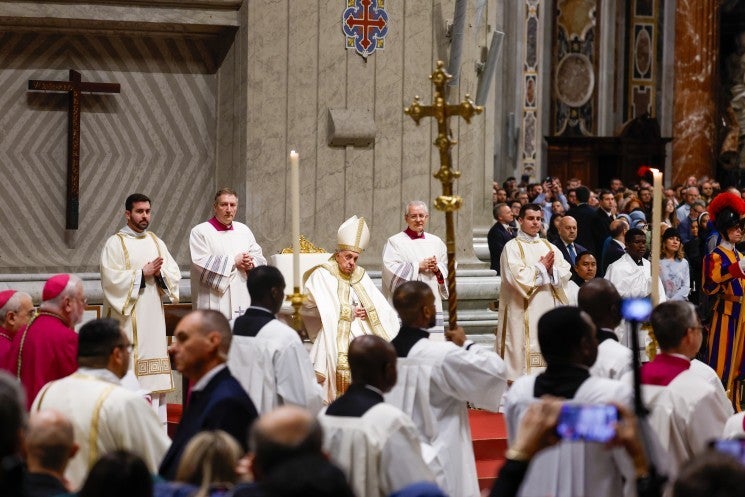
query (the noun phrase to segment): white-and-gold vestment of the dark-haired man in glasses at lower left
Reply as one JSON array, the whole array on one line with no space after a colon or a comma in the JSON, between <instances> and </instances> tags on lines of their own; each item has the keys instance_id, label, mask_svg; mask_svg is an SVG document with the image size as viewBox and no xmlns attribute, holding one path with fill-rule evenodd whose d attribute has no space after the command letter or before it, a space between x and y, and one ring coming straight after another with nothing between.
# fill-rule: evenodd
<instances>
[{"instance_id":1,"label":"white-and-gold vestment of the dark-haired man in glasses at lower left","mask_svg":"<svg viewBox=\"0 0 745 497\"><path fill-rule=\"evenodd\" d=\"M107 369L81 368L47 383L31 412L54 409L73 424L78 453L70 460L65 478L79 489L93 464L104 454L126 450L145 461L157 474L171 440L158 416L140 395L119 386Z\"/></svg>"}]
</instances>

